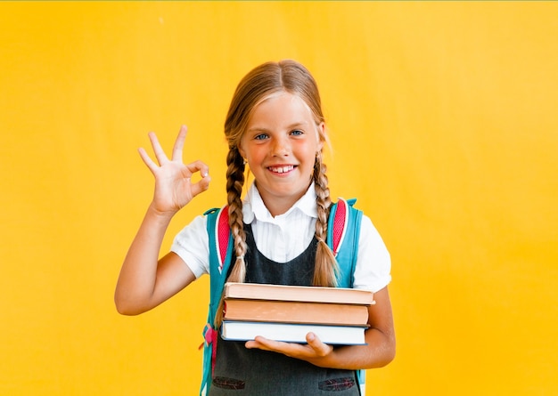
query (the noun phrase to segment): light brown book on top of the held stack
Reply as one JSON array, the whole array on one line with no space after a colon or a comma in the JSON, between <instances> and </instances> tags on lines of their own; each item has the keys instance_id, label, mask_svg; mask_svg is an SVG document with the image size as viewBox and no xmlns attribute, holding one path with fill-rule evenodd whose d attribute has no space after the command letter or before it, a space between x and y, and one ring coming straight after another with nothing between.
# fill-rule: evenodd
<instances>
[{"instance_id":1,"label":"light brown book on top of the held stack","mask_svg":"<svg viewBox=\"0 0 558 396\"><path fill-rule=\"evenodd\" d=\"M373 292L344 287L283 286L258 283L225 284L225 298L299 301L308 303L346 303L372 305Z\"/></svg>"}]
</instances>

